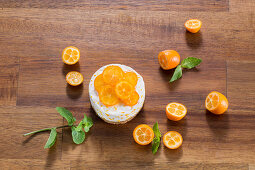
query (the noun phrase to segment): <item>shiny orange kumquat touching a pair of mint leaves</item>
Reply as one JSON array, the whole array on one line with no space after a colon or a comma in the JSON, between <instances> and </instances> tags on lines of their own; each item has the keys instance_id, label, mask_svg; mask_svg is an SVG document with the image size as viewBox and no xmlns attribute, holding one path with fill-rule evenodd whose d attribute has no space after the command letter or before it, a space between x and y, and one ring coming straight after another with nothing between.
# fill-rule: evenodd
<instances>
[{"instance_id":1,"label":"shiny orange kumquat touching a pair of mint leaves","mask_svg":"<svg viewBox=\"0 0 255 170\"><path fill-rule=\"evenodd\" d=\"M162 69L170 70L180 64L180 55L174 50L161 51L158 61Z\"/></svg>"}]
</instances>

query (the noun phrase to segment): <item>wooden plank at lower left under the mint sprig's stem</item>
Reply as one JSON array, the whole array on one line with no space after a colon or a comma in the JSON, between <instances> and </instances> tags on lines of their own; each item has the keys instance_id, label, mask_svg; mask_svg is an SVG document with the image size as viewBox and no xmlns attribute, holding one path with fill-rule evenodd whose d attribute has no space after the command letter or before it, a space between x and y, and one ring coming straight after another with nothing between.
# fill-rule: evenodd
<instances>
[{"instance_id":1,"label":"wooden plank at lower left under the mint sprig's stem","mask_svg":"<svg viewBox=\"0 0 255 170\"><path fill-rule=\"evenodd\" d=\"M49 132L24 137L34 130L62 125L62 117L54 110L43 107L1 107L1 159L42 159L49 164L61 158L62 132L56 145L44 149Z\"/></svg>"}]
</instances>

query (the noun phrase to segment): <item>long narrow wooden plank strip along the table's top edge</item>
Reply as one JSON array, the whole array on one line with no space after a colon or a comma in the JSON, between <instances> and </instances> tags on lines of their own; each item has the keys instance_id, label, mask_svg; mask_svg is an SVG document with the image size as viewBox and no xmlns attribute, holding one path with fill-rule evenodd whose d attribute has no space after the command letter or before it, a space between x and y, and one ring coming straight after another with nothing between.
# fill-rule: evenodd
<instances>
[{"instance_id":1,"label":"long narrow wooden plank strip along the table's top edge","mask_svg":"<svg viewBox=\"0 0 255 170\"><path fill-rule=\"evenodd\" d=\"M47 0L47 1L12 1L6 0L0 3L3 8L50 8L50 9L82 9L82 10L153 10L153 11L227 11L228 0L94 0L94 1L61 1L61 0ZM192 8L190 8L192 6Z\"/></svg>"}]
</instances>

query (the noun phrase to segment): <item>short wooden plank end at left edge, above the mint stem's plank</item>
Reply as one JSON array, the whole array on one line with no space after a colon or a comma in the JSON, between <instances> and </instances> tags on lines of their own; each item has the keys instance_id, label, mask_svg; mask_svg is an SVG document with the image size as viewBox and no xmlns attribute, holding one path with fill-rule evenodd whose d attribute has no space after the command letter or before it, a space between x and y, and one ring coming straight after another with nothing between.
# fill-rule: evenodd
<instances>
[{"instance_id":1,"label":"short wooden plank end at left edge, above the mint stem's plank","mask_svg":"<svg viewBox=\"0 0 255 170\"><path fill-rule=\"evenodd\" d=\"M19 57L0 56L0 106L15 106L19 79Z\"/></svg>"}]
</instances>

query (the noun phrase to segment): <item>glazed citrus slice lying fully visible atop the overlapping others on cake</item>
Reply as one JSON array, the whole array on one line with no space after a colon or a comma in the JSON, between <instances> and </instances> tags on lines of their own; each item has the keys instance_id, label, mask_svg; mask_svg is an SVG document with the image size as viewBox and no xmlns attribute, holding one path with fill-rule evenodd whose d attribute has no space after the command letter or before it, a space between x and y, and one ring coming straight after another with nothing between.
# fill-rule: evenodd
<instances>
[{"instance_id":1,"label":"glazed citrus slice lying fully visible atop the overlapping others on cake","mask_svg":"<svg viewBox=\"0 0 255 170\"><path fill-rule=\"evenodd\" d=\"M122 100L129 98L133 94L134 90L134 86L127 81L120 81L115 86L116 95Z\"/></svg>"}]
</instances>

